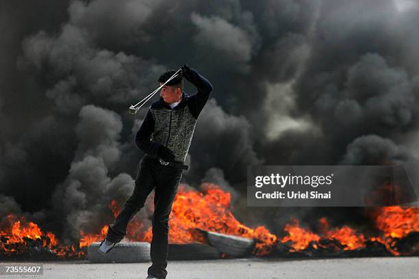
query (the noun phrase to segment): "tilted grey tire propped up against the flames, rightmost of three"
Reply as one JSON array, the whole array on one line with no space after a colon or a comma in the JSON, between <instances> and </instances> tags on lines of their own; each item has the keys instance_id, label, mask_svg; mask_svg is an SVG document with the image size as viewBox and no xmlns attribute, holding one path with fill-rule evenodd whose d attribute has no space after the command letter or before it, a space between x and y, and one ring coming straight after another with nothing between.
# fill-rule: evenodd
<instances>
[{"instance_id":1,"label":"tilted grey tire propped up against the flames, rightmost of three","mask_svg":"<svg viewBox=\"0 0 419 279\"><path fill-rule=\"evenodd\" d=\"M250 256L255 247L255 241L253 239L214 232L205 232L205 235L210 245L214 246L219 252L230 256Z\"/></svg>"}]
</instances>

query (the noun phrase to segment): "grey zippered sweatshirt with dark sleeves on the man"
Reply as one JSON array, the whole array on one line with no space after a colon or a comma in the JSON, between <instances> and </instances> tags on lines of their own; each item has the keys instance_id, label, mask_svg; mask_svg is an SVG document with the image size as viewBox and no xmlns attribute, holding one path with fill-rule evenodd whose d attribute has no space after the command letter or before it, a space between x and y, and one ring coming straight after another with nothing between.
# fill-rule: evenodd
<instances>
[{"instance_id":1,"label":"grey zippered sweatshirt with dark sleeves on the man","mask_svg":"<svg viewBox=\"0 0 419 279\"><path fill-rule=\"evenodd\" d=\"M212 85L193 68L190 68L190 74L184 78L198 91L192 96L182 92L180 103L173 109L160 96L159 101L149 107L136 133L136 145L146 156L156 159L160 145L172 150L177 162L183 163L188 155L196 121L210 98Z\"/></svg>"}]
</instances>

